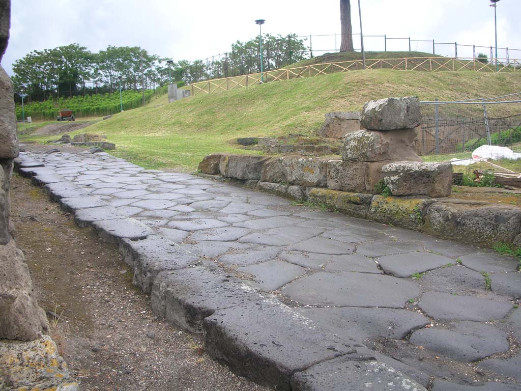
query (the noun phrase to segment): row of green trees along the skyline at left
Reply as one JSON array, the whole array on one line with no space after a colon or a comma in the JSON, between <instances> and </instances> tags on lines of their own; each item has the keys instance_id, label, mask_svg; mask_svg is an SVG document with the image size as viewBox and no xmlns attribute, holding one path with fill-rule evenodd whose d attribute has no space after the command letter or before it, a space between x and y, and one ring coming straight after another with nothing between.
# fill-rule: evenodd
<instances>
[{"instance_id":1,"label":"row of green trees along the skyline at left","mask_svg":"<svg viewBox=\"0 0 521 391\"><path fill-rule=\"evenodd\" d=\"M305 58L304 41L290 34L263 34L264 69L276 69ZM170 78L178 84L240 76L261 68L258 36L237 41L231 51L206 60L168 62L141 47L108 46L98 53L72 43L33 51L13 65L15 91L28 101L122 90L154 89ZM18 96L19 98L19 96Z\"/></svg>"}]
</instances>

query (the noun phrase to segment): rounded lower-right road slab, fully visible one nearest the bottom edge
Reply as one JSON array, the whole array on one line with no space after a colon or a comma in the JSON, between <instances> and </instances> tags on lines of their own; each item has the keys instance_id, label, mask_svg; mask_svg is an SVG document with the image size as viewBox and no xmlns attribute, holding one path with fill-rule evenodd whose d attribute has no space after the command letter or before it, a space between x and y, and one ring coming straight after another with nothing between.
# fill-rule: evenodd
<instances>
[{"instance_id":1,"label":"rounded lower-right road slab, fully visible one nearest the bottom edge","mask_svg":"<svg viewBox=\"0 0 521 391\"><path fill-rule=\"evenodd\" d=\"M435 326L415 331L411 343L442 356L472 362L508 350L508 336L489 324L461 321L448 328Z\"/></svg>"}]
</instances>

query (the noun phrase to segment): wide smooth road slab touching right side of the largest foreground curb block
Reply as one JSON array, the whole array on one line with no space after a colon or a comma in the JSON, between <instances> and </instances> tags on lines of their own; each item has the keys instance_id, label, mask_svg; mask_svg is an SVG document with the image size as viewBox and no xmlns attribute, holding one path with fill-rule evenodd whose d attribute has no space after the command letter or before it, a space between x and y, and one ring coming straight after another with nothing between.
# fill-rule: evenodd
<instances>
[{"instance_id":1,"label":"wide smooth road slab touching right side of the largest foreground curb block","mask_svg":"<svg viewBox=\"0 0 521 391\"><path fill-rule=\"evenodd\" d=\"M299 313L343 339L370 337L403 339L430 320L417 312L391 308L299 308Z\"/></svg>"}]
</instances>

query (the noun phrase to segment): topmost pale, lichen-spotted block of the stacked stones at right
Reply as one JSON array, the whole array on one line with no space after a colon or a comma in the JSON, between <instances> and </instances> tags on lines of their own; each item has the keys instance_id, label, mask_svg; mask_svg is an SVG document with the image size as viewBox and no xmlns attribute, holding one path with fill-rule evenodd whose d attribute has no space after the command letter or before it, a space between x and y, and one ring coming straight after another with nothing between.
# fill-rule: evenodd
<instances>
[{"instance_id":1,"label":"topmost pale, lichen-spotted block of the stacked stones at right","mask_svg":"<svg viewBox=\"0 0 521 391\"><path fill-rule=\"evenodd\" d=\"M369 130L416 128L421 122L417 96L391 97L364 105L360 123Z\"/></svg>"}]
</instances>

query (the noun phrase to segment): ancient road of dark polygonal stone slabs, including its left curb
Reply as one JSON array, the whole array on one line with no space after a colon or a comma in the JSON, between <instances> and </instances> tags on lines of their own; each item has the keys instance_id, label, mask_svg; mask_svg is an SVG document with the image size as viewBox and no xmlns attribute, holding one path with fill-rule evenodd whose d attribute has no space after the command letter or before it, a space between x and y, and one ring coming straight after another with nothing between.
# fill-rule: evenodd
<instances>
[{"instance_id":1,"label":"ancient road of dark polygonal stone slabs, including its left curb","mask_svg":"<svg viewBox=\"0 0 521 391\"><path fill-rule=\"evenodd\" d=\"M433 390L521 389L513 258L106 153L29 152L18 162L78 224L120 245L156 313L204 329L210 355L253 380L422 389L392 367ZM281 368L252 373L248 354Z\"/></svg>"}]
</instances>

